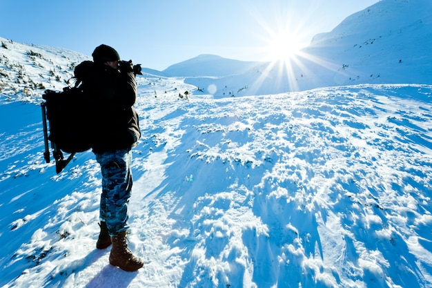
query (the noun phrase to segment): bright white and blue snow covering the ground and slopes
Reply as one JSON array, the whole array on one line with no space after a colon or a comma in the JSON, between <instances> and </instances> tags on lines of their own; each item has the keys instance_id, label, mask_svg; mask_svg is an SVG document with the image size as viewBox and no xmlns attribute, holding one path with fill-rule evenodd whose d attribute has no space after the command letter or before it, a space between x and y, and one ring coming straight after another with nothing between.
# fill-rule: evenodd
<instances>
[{"instance_id":1,"label":"bright white and blue snow covering the ground and slopes","mask_svg":"<svg viewBox=\"0 0 432 288\"><path fill-rule=\"evenodd\" d=\"M372 83L370 69L391 75L393 64L317 47L335 37L351 46L346 31L360 30L356 41L366 30L379 33L360 24L391 7L376 20L390 29L409 5L431 13L427 1L383 0L315 38L315 55L368 75L353 85L324 83L332 78L327 68L315 70L322 86L293 92L264 81L261 94L251 93L250 72L137 77L143 137L133 150L128 241L145 265L134 273L110 266L109 248L95 248L94 155L79 153L56 175L43 158L43 89L24 93L31 81L61 89L70 64L89 57L0 39L8 46L0 48L0 73L8 75L0 81L0 286L431 287L431 60L427 46L409 53L411 39L430 35L430 26L423 21L415 33L369 46L379 55L395 41L409 44L388 54L418 66ZM30 50L40 56L31 60ZM210 95L191 81L248 88Z\"/></svg>"}]
</instances>

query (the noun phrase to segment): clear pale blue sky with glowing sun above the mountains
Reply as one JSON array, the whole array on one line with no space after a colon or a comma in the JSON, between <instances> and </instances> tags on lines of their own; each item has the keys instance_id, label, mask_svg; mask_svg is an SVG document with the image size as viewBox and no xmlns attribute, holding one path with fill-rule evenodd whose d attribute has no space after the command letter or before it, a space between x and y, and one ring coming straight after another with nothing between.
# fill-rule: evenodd
<instances>
[{"instance_id":1,"label":"clear pale blue sky with glowing sun above the mountains","mask_svg":"<svg viewBox=\"0 0 432 288\"><path fill-rule=\"evenodd\" d=\"M157 70L200 54L268 61L377 2L0 0L0 37L87 55L107 44L121 59Z\"/></svg>"}]
</instances>

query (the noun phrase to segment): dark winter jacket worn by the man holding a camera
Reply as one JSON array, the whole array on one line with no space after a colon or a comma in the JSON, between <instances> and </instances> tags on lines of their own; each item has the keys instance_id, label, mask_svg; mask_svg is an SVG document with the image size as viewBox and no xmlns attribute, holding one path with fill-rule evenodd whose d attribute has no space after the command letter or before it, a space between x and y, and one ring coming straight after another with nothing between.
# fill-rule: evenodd
<instances>
[{"instance_id":1,"label":"dark winter jacket worn by the man holding a camera","mask_svg":"<svg viewBox=\"0 0 432 288\"><path fill-rule=\"evenodd\" d=\"M75 69L82 79L95 113L92 149L95 153L134 146L141 137L138 115L132 107L137 98L133 72L119 72L104 64L85 61Z\"/></svg>"}]
</instances>

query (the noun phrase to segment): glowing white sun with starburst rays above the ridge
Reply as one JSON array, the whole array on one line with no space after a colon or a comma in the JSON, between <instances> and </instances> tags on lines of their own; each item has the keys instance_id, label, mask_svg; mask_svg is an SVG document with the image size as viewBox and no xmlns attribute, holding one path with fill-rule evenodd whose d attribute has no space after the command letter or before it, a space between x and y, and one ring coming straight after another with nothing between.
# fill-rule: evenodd
<instances>
[{"instance_id":1,"label":"glowing white sun with starburst rays above the ridge","mask_svg":"<svg viewBox=\"0 0 432 288\"><path fill-rule=\"evenodd\" d=\"M309 31L312 28L308 26L311 15L298 17L295 15L295 7L291 7L294 4L287 5L273 7L273 15L263 15L255 11L255 19L261 27L255 37L261 39L259 54L267 63L253 84L256 90L268 79L287 92L302 90L302 87L308 86L308 81L317 81L313 79L314 68L326 67L335 70L335 65L330 61L320 59L304 49L311 43L311 39L306 39L306 35L311 34ZM300 20L295 20L299 18Z\"/></svg>"}]
</instances>

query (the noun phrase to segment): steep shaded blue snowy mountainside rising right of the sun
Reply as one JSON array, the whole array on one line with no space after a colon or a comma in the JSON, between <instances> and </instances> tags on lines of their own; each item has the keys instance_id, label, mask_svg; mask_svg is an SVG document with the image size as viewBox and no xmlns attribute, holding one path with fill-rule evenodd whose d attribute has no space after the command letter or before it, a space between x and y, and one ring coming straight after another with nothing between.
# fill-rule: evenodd
<instances>
[{"instance_id":1,"label":"steep shaded blue snowy mountainside rising right of the sun","mask_svg":"<svg viewBox=\"0 0 432 288\"><path fill-rule=\"evenodd\" d=\"M429 84L431 17L431 1L379 1L347 17L331 32L317 35L302 51L302 59L311 59L306 68L313 71L316 86L332 79L332 85ZM309 75L298 66L295 70ZM305 83L299 86L310 87Z\"/></svg>"}]
</instances>

